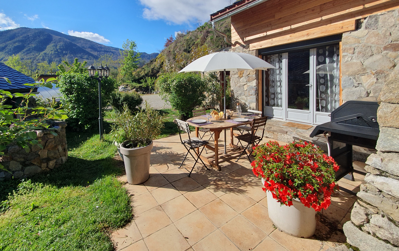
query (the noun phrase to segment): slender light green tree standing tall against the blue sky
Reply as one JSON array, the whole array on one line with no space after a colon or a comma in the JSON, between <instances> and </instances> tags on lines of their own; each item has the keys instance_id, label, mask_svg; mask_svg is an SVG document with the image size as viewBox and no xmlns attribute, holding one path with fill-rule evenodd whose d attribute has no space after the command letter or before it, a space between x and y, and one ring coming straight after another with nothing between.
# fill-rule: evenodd
<instances>
[{"instance_id":1,"label":"slender light green tree standing tall against the blue sky","mask_svg":"<svg viewBox=\"0 0 399 251\"><path fill-rule=\"evenodd\" d=\"M120 50L120 73L123 79L125 76L133 77L133 71L138 68L141 53L136 53L136 41L126 39L122 45L123 51Z\"/></svg>"}]
</instances>

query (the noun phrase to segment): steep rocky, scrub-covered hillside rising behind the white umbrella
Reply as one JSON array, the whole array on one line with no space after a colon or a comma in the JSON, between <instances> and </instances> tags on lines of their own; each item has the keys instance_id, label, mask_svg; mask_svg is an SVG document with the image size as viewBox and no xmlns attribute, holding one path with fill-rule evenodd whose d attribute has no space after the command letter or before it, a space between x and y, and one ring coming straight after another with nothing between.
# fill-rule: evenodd
<instances>
[{"instance_id":1,"label":"steep rocky, scrub-covered hillside rising behind the white umbrella","mask_svg":"<svg viewBox=\"0 0 399 251\"><path fill-rule=\"evenodd\" d=\"M231 38L230 18L218 22L216 27ZM205 23L186 34L178 34L158 57L136 70L133 81L139 83L146 76L157 77L161 73L180 71L199 57L228 46L230 45L224 41L224 37L215 35L212 26Z\"/></svg>"}]
</instances>

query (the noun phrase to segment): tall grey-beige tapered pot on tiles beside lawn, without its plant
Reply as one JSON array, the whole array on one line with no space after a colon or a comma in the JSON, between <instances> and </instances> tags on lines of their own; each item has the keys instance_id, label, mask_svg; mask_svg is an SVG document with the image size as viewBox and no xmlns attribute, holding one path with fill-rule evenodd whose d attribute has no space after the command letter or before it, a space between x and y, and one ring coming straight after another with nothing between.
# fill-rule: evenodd
<instances>
[{"instance_id":1,"label":"tall grey-beige tapered pot on tiles beside lawn, without its plant","mask_svg":"<svg viewBox=\"0 0 399 251\"><path fill-rule=\"evenodd\" d=\"M127 182L130 184L140 184L148 180L150 176L150 155L153 144L145 147L124 148L128 141L120 145L120 153L126 170Z\"/></svg>"}]
</instances>

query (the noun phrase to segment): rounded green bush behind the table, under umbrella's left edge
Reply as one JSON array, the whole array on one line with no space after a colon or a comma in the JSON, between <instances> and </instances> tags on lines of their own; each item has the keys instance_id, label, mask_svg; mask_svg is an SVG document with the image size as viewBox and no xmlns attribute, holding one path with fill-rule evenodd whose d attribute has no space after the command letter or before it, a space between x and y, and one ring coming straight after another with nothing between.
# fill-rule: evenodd
<instances>
[{"instance_id":1,"label":"rounded green bush behind the table, under umbrella's left edge","mask_svg":"<svg viewBox=\"0 0 399 251\"><path fill-rule=\"evenodd\" d=\"M173 109L179 111L180 118L192 117L192 111L205 100L206 84L196 73L166 74L158 78L161 97Z\"/></svg>"}]
</instances>

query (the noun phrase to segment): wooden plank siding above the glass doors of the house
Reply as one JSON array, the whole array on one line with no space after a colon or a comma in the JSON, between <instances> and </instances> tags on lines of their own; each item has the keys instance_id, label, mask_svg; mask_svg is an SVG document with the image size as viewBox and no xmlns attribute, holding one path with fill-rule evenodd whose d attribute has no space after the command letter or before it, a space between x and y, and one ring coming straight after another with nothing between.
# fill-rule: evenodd
<instances>
[{"instance_id":1,"label":"wooden plank siding above the glass doors of the house","mask_svg":"<svg viewBox=\"0 0 399 251\"><path fill-rule=\"evenodd\" d=\"M231 17L231 41L254 50L334 35L396 8L399 0L269 0Z\"/></svg>"}]
</instances>

